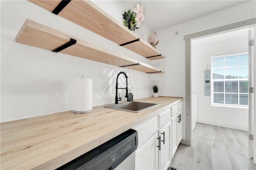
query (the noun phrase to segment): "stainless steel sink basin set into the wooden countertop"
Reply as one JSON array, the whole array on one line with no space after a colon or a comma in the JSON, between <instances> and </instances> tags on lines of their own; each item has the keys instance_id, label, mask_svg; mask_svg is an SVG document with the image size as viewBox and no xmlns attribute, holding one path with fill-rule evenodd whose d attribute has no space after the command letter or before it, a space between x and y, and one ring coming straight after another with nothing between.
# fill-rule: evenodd
<instances>
[{"instance_id":1,"label":"stainless steel sink basin set into the wooden countertop","mask_svg":"<svg viewBox=\"0 0 256 170\"><path fill-rule=\"evenodd\" d=\"M157 105L159 105L159 104L129 101L126 103L119 103L119 104L108 105L108 106L104 106L104 107L138 113L138 112L144 111L146 109L155 107Z\"/></svg>"}]
</instances>

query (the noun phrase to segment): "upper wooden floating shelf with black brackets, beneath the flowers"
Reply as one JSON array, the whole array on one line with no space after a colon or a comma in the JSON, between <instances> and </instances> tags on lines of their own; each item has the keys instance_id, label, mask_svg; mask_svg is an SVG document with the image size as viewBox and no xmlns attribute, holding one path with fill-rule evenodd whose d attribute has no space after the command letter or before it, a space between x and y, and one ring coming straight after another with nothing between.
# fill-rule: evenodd
<instances>
[{"instance_id":1,"label":"upper wooden floating shelf with black brackets, beneath the flowers","mask_svg":"<svg viewBox=\"0 0 256 170\"><path fill-rule=\"evenodd\" d=\"M112 16L104 12L90 0L29 0L30 2L74 22L112 42L122 45L138 40L139 37ZM68 3L66 6L63 5ZM60 4L60 5L59 5ZM58 8L56 8L58 6ZM56 12L56 9L58 12ZM55 10L55 11L54 11ZM120 14L121 15L121 14ZM123 45L150 60L165 58L163 54L154 49L144 40Z\"/></svg>"}]
</instances>

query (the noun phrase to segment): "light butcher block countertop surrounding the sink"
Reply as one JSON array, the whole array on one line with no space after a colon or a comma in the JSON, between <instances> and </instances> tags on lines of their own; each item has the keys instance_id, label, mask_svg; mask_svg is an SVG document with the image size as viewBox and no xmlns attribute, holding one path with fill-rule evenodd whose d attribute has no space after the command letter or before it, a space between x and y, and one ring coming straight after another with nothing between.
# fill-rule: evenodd
<instances>
[{"instance_id":1,"label":"light butcher block countertop surrounding the sink","mask_svg":"<svg viewBox=\"0 0 256 170\"><path fill-rule=\"evenodd\" d=\"M182 97L147 97L134 101L160 105L140 113L101 105L93 107L90 113L65 111L1 123L0 169L58 168L176 105Z\"/></svg>"}]
</instances>

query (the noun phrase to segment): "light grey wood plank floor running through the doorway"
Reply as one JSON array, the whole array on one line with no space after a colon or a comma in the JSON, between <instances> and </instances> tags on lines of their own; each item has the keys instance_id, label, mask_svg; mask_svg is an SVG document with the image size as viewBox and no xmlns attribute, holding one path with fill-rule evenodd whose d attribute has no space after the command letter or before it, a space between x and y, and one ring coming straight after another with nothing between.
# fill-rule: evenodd
<instances>
[{"instance_id":1,"label":"light grey wood plank floor running through the doorway","mask_svg":"<svg viewBox=\"0 0 256 170\"><path fill-rule=\"evenodd\" d=\"M170 164L177 170L256 170L248 158L248 132L197 123L192 146L180 144Z\"/></svg>"}]
</instances>

